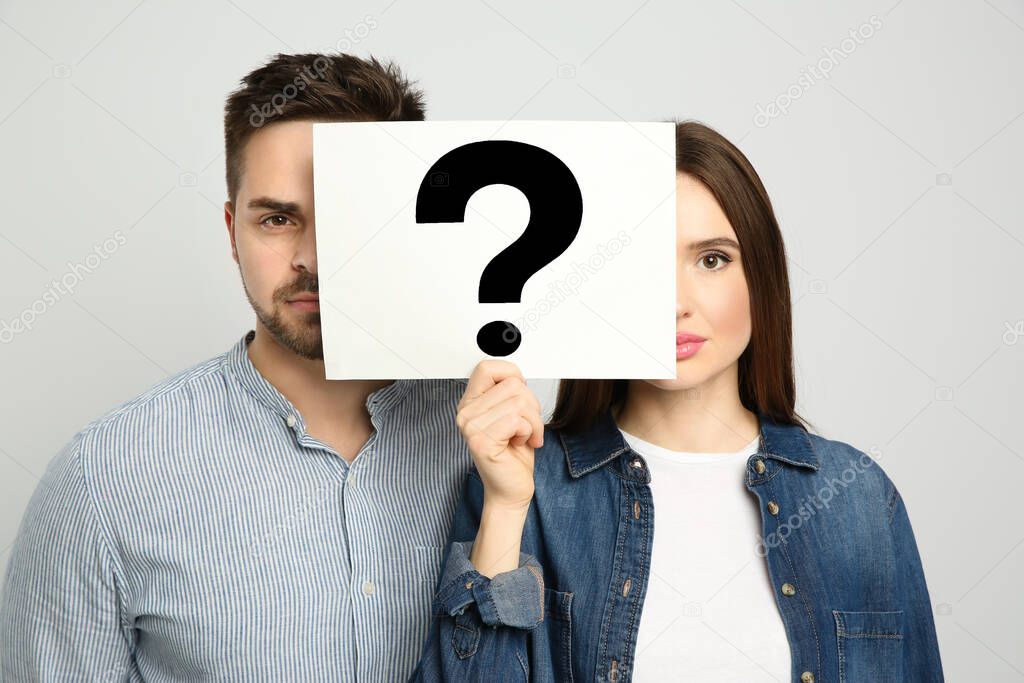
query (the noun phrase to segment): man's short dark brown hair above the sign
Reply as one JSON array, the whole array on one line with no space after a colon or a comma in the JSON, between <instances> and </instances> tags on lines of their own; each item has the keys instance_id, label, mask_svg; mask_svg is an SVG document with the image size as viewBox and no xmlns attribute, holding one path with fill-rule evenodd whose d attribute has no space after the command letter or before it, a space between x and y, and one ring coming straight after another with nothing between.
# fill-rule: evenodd
<instances>
[{"instance_id":1,"label":"man's short dark brown hair above the sign","mask_svg":"<svg viewBox=\"0 0 1024 683\"><path fill-rule=\"evenodd\" d=\"M244 171L242 153L264 125L281 121L423 121L423 92L393 63L350 54L278 54L242 79L224 105L227 197Z\"/></svg>"}]
</instances>

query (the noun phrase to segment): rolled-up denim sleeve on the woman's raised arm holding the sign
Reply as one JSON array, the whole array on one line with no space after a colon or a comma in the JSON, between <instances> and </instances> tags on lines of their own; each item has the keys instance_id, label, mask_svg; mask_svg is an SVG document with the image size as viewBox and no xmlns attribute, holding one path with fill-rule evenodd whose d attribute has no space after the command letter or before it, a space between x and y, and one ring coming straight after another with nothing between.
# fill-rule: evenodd
<instances>
[{"instance_id":1,"label":"rolled-up denim sleeve on the woman's raised arm holding the sign","mask_svg":"<svg viewBox=\"0 0 1024 683\"><path fill-rule=\"evenodd\" d=\"M456 508L433 600L433 620L410 679L527 680L527 639L544 621L544 578L537 560L487 579L469 561L483 508L483 484L471 471Z\"/></svg>"}]
</instances>

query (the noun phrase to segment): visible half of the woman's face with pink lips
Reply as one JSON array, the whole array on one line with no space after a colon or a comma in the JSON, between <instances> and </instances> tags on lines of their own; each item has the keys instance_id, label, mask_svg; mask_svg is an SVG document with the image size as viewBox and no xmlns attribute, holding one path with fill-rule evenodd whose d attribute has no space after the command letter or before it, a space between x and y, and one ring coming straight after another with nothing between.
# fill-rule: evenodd
<instances>
[{"instance_id":1,"label":"visible half of the woman's face with pink lips","mask_svg":"<svg viewBox=\"0 0 1024 683\"><path fill-rule=\"evenodd\" d=\"M689 341L683 335L703 338ZM694 389L729 371L751 340L751 304L739 244L714 195L676 176L676 379L646 380Z\"/></svg>"}]
</instances>

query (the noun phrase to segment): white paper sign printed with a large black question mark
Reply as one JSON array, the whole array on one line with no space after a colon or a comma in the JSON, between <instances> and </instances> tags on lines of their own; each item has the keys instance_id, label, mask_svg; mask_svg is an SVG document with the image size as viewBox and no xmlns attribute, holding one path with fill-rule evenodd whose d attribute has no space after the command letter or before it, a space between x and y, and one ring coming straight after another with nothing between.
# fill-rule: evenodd
<instances>
[{"instance_id":1,"label":"white paper sign printed with a large black question mark","mask_svg":"<svg viewBox=\"0 0 1024 683\"><path fill-rule=\"evenodd\" d=\"M317 123L313 168L328 379L676 377L674 124Z\"/></svg>"}]
</instances>

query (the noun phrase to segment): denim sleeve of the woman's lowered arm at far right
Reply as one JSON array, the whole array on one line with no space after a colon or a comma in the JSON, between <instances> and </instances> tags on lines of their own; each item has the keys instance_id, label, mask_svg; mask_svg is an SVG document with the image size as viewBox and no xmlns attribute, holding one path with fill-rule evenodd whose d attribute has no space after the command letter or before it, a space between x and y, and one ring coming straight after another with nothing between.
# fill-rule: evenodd
<instances>
[{"instance_id":1,"label":"denim sleeve of the woman's lowered arm at far right","mask_svg":"<svg viewBox=\"0 0 1024 683\"><path fill-rule=\"evenodd\" d=\"M942 661L935 635L932 601L925 583L925 572L913 538L910 518L903 498L895 487L889 504L893 540L896 546L896 571L903 597L904 639L903 680L941 683Z\"/></svg>"}]
</instances>

